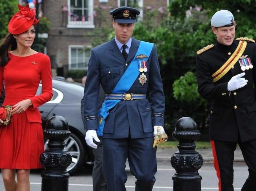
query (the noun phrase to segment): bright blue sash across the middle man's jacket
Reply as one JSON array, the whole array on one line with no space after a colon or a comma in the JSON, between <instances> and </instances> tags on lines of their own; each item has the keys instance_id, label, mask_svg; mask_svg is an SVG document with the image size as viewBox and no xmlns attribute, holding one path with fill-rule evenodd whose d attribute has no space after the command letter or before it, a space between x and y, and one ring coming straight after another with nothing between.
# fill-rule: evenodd
<instances>
[{"instance_id":1,"label":"bright blue sash across the middle man's jacket","mask_svg":"<svg viewBox=\"0 0 256 191\"><path fill-rule=\"evenodd\" d=\"M137 53L134 56L133 61L131 61L129 67L126 69L125 73L122 75L121 79L118 81L117 85L111 92L111 94L125 94L127 93L135 80L138 78L139 75L139 68L138 68L138 61L135 61L137 54L143 54L146 55L147 58L143 58L142 60L147 61L149 58L149 55L151 53L151 50L153 49L153 43L150 42L144 42L141 41L139 44L139 48ZM121 99L105 99L105 101L102 104L101 109L99 110L99 127L97 130L98 136L103 136L103 129L105 125L105 119L109 115L109 110L115 105L118 104L118 102L121 101Z\"/></svg>"}]
</instances>

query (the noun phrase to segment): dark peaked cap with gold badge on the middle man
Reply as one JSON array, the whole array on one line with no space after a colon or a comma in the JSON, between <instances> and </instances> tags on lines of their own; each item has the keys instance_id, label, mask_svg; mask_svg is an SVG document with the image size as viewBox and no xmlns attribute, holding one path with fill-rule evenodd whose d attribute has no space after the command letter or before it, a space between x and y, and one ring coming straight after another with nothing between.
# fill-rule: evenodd
<instances>
[{"instance_id":1,"label":"dark peaked cap with gold badge on the middle man","mask_svg":"<svg viewBox=\"0 0 256 191\"><path fill-rule=\"evenodd\" d=\"M118 23L134 23L139 10L131 7L118 7L109 12L113 15L113 19Z\"/></svg>"}]
</instances>

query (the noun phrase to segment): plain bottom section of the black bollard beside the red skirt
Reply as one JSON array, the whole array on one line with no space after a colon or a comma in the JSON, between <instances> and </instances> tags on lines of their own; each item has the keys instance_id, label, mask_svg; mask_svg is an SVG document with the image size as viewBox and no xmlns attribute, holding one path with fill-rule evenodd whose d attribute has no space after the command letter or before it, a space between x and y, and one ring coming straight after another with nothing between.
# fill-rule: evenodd
<instances>
[{"instance_id":1,"label":"plain bottom section of the black bollard beside the red skirt","mask_svg":"<svg viewBox=\"0 0 256 191\"><path fill-rule=\"evenodd\" d=\"M54 174L42 173L42 188L41 191L65 191L68 190L68 173Z\"/></svg>"}]
</instances>

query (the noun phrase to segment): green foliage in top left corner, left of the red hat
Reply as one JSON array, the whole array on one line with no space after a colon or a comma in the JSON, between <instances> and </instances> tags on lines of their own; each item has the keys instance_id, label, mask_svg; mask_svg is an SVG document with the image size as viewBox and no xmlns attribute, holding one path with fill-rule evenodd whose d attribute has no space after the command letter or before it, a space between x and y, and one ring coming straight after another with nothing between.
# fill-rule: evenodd
<instances>
[{"instance_id":1,"label":"green foliage in top left corner, left of the red hat","mask_svg":"<svg viewBox=\"0 0 256 191\"><path fill-rule=\"evenodd\" d=\"M18 11L17 0L0 0L0 38L4 38L8 32L8 23L13 14Z\"/></svg>"}]
</instances>

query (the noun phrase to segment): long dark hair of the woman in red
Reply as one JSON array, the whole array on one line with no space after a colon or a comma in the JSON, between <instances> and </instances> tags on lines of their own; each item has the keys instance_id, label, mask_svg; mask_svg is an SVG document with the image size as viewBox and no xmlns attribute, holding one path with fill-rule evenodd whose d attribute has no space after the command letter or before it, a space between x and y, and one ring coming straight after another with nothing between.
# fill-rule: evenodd
<instances>
[{"instance_id":1,"label":"long dark hair of the woman in red","mask_svg":"<svg viewBox=\"0 0 256 191\"><path fill-rule=\"evenodd\" d=\"M8 50L15 50L17 48L16 39L11 33L8 33L5 38L2 40L0 46L0 66L4 67L7 65L7 62L10 60L8 56Z\"/></svg>"}]
</instances>

